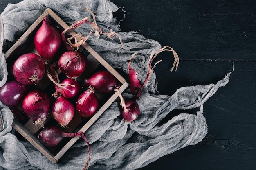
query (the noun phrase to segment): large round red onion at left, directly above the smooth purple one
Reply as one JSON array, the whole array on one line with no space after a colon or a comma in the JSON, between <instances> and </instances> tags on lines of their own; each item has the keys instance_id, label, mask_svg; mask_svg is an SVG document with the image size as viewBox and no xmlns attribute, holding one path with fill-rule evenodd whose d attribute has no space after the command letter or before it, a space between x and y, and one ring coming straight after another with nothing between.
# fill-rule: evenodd
<instances>
[{"instance_id":1,"label":"large round red onion at left, directly above the smooth purple one","mask_svg":"<svg viewBox=\"0 0 256 170\"><path fill-rule=\"evenodd\" d=\"M40 81L45 74L45 62L33 53L21 55L13 64L13 76L24 85L32 85Z\"/></svg>"}]
</instances>

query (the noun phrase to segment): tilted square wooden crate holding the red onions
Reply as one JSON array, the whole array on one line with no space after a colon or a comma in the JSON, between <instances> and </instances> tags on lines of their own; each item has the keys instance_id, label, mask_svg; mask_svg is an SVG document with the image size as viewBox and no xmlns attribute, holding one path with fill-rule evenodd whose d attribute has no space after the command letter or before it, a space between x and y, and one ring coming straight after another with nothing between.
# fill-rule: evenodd
<instances>
[{"instance_id":1,"label":"tilted square wooden crate holding the red onions","mask_svg":"<svg viewBox=\"0 0 256 170\"><path fill-rule=\"evenodd\" d=\"M51 9L46 9L45 12L32 24L28 30L18 39L18 41L4 54L7 65L11 67L12 62L15 61L20 55L28 52L37 53L34 47L34 35L38 28L41 26L43 22L43 17L48 16L53 24L56 24L60 29L66 29L69 26L58 17L54 11ZM75 35L76 33L70 32L70 35ZM126 80L114 69L112 68L97 52L95 52L87 43L83 45L88 51L88 65L86 70L91 70L91 72L86 72L83 76L88 76L92 74L94 70L101 66L102 68L108 70L112 73L117 80L119 80L121 87L119 88L120 92L123 92L127 87L128 83ZM48 88L51 82L47 79L47 77L43 78L43 80L37 83L37 88L45 90ZM73 120L68 124L68 128L62 129L65 132L73 132L77 127L81 127L79 131L83 133L88 130L92 124L97 121L97 119L101 116L101 114L112 104L112 102L118 98L117 92L113 92L110 95L101 96L97 94L99 98L103 99L101 103L101 107L97 110L97 112L92 116L92 118L88 120L81 120L78 113L75 113ZM49 114L45 124L50 123L53 118L51 118ZM35 146L45 157L47 157L53 163L56 163L65 152L79 139L79 137L68 138L64 140L61 144L56 147L47 147L41 144L37 139L38 132L42 129L38 125L33 124L34 121L28 120L27 122L20 122L14 118L13 128L20 133L27 141L29 141L33 146ZM58 126L57 123L54 123L55 126Z\"/></svg>"}]
</instances>

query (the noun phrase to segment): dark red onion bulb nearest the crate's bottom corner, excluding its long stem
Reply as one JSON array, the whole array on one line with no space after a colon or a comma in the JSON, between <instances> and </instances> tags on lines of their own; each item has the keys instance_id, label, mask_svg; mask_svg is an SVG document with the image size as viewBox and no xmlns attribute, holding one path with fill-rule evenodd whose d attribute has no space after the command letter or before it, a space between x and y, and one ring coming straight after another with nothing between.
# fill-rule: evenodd
<instances>
[{"instance_id":1,"label":"dark red onion bulb nearest the crate's bottom corner, excluding its long stem","mask_svg":"<svg viewBox=\"0 0 256 170\"><path fill-rule=\"evenodd\" d=\"M38 134L38 139L45 146L52 147L58 145L61 142L61 140L63 139L62 134L63 131L54 126L45 127Z\"/></svg>"}]
</instances>

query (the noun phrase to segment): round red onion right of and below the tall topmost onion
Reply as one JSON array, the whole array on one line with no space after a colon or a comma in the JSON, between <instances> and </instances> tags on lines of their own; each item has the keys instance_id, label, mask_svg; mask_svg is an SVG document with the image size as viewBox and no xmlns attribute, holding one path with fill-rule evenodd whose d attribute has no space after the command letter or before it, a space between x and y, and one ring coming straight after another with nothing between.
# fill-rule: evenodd
<instances>
[{"instance_id":1,"label":"round red onion right of and below the tall topmost onion","mask_svg":"<svg viewBox=\"0 0 256 170\"><path fill-rule=\"evenodd\" d=\"M75 79L85 71L87 58L77 51L68 50L61 54L58 67L67 77Z\"/></svg>"}]
</instances>

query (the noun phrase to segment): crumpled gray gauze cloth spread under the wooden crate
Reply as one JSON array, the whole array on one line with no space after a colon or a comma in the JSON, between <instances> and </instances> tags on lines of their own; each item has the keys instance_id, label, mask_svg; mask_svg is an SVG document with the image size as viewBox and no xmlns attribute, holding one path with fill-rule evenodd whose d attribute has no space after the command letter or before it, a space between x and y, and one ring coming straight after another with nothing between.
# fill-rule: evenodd
<instances>
[{"instance_id":1,"label":"crumpled gray gauze cloth spread under the wooden crate","mask_svg":"<svg viewBox=\"0 0 256 170\"><path fill-rule=\"evenodd\" d=\"M119 38L111 40L105 35L101 35L99 39L91 35L88 44L113 68L118 68L127 74L128 61L136 52L131 67L138 72L139 80L144 81L147 73L146 63L150 54L157 52L161 45L135 32L119 32L119 24L113 18L113 12L117 11L118 7L107 0L24 0L18 4L9 4L1 14L4 21L5 50L10 47L7 42L17 41L48 7L68 25L75 20L91 16L81 7L91 9L96 16L97 24L104 32L110 32L112 29L121 35L124 48L118 53L121 47ZM90 29L90 25L83 24L76 32L87 35ZM7 78L4 54L1 55L0 63L0 86L2 86ZM85 132L91 147L89 168L133 170L144 167L180 148L202 141L207 134L203 103L219 87L228 83L230 74L231 72L216 84L182 87L171 96L156 94L156 76L152 74L137 101L140 115L135 121L131 123L124 121L119 110L120 99L117 98ZM126 89L123 96L129 98L132 97L132 93ZM199 110L196 114L182 113L159 125L159 122L173 109L187 110L196 107ZM0 109L5 127L0 132L0 167L8 170L79 170L84 167L88 149L82 139L79 139L57 163L52 163L29 142L19 141L16 138L11 126L13 122L11 111L2 103Z\"/></svg>"}]
</instances>

